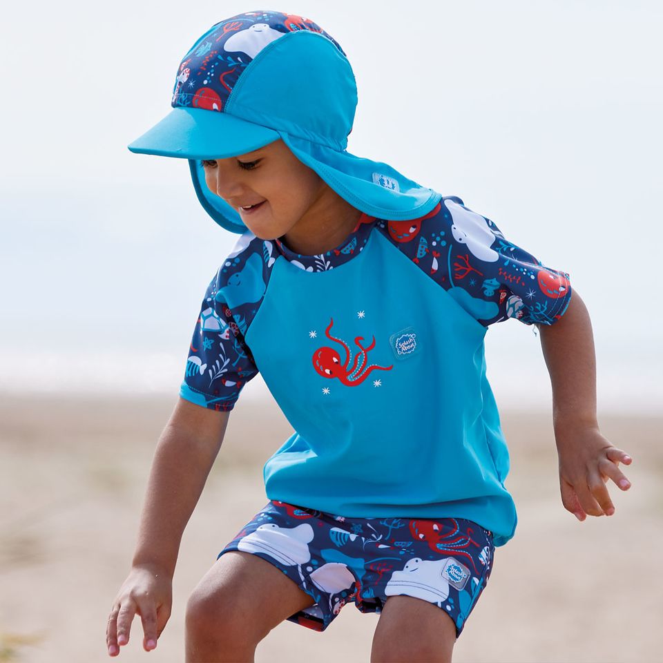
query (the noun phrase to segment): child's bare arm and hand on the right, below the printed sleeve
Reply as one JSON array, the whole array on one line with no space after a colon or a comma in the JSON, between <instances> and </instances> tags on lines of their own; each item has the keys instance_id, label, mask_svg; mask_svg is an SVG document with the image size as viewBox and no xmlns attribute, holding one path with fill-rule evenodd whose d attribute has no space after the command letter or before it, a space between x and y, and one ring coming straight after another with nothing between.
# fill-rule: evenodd
<instances>
[{"instance_id":1,"label":"child's bare arm and hand on the right, below the printed sleeve","mask_svg":"<svg viewBox=\"0 0 663 663\"><path fill-rule=\"evenodd\" d=\"M554 325L537 327L553 387L561 501L580 521L586 514L613 515L605 483L612 479L627 490L631 483L618 468L632 459L599 432L592 325L577 291L564 316Z\"/></svg>"}]
</instances>

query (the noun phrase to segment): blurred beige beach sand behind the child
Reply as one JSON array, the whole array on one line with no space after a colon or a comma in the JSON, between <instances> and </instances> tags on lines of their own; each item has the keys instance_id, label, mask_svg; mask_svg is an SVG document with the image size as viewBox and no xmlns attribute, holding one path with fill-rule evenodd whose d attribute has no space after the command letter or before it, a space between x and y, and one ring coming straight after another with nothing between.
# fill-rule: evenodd
<instances>
[{"instance_id":1,"label":"blurred beige beach sand behind the child","mask_svg":"<svg viewBox=\"0 0 663 663\"><path fill-rule=\"evenodd\" d=\"M173 400L0 399L0 661L106 656L111 602L126 577L149 465ZM548 414L506 412L519 524L454 650L454 662L656 660L663 616L662 419L600 419L633 455L611 518L579 523L561 506ZM240 403L184 532L173 615L157 649L140 622L117 660L182 660L184 606L218 550L267 501L262 463L290 434L272 401ZM612 486L612 484L611 484ZM258 662L368 661L378 617L351 604L325 633L284 622Z\"/></svg>"}]
</instances>

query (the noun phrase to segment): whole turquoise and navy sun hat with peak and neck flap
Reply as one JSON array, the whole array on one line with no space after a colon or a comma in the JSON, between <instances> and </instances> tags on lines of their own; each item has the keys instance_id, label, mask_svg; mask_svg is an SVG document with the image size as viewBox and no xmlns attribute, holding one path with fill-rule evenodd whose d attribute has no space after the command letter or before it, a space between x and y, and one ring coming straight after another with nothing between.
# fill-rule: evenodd
<instances>
[{"instance_id":1,"label":"whole turquoise and navy sun hat with peak and neck flap","mask_svg":"<svg viewBox=\"0 0 663 663\"><path fill-rule=\"evenodd\" d=\"M439 193L347 152L356 105L352 67L325 30L300 16L246 12L215 23L193 44L177 69L173 110L128 148L188 159L202 206L235 233L247 227L209 190L200 160L279 139L356 209L387 220L421 218Z\"/></svg>"}]
</instances>

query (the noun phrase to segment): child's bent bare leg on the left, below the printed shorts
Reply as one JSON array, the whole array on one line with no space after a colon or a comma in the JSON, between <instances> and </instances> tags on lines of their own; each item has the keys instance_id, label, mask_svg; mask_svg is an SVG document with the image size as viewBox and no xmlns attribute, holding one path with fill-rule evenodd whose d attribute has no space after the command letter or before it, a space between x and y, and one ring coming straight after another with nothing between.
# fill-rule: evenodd
<instances>
[{"instance_id":1,"label":"child's bent bare leg on the left, below the printed shorts","mask_svg":"<svg viewBox=\"0 0 663 663\"><path fill-rule=\"evenodd\" d=\"M202 577L186 606L186 661L253 661L274 626L314 604L269 561L230 550Z\"/></svg>"}]
</instances>

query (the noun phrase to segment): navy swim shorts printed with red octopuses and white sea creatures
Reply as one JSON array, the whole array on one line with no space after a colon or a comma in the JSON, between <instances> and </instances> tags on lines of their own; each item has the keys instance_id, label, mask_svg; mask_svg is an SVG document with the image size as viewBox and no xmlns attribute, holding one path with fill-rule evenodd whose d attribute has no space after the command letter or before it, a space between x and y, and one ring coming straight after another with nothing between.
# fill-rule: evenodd
<instances>
[{"instance_id":1,"label":"navy swim shorts printed with red octopuses and white sea creatures","mask_svg":"<svg viewBox=\"0 0 663 663\"><path fill-rule=\"evenodd\" d=\"M288 621L325 631L354 601L380 613L390 596L442 608L459 637L490 577L492 532L461 518L350 518L269 501L219 553L253 553L280 568L315 604Z\"/></svg>"}]
</instances>

